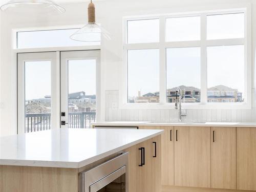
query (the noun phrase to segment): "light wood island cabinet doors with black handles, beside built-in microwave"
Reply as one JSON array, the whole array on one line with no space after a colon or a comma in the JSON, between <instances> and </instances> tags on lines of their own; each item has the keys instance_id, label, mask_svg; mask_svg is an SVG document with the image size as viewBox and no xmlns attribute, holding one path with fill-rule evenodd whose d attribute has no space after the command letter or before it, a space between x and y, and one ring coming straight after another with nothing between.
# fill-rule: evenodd
<instances>
[{"instance_id":1,"label":"light wood island cabinet doors with black handles, beside built-in microwave","mask_svg":"<svg viewBox=\"0 0 256 192\"><path fill-rule=\"evenodd\" d=\"M142 154L140 148L144 150ZM161 136L126 151L129 152L129 191L161 192ZM144 163L143 166L139 166L141 163Z\"/></svg>"}]
</instances>

